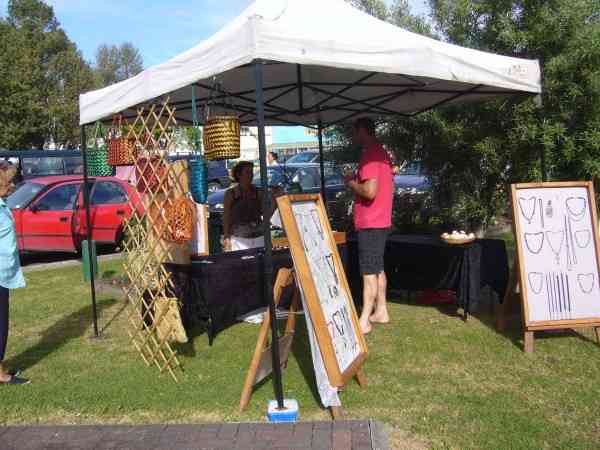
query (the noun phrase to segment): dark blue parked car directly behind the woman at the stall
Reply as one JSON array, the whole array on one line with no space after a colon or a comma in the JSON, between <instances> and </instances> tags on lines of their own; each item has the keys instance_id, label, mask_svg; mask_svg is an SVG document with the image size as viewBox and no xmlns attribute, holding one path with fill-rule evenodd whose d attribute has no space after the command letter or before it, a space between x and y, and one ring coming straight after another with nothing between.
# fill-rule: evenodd
<instances>
[{"instance_id":1,"label":"dark blue parked car directly behind the woman at the stall","mask_svg":"<svg viewBox=\"0 0 600 450\"><path fill-rule=\"evenodd\" d=\"M269 186L278 186L285 193L318 194L321 192L321 176L319 164L294 164L271 166L267 169ZM260 171L255 171L252 183L260 186ZM210 221L214 226L222 227L226 189L208 196ZM344 174L332 164L325 165L325 195L330 220L335 224L344 220L348 206L345 203L346 185Z\"/></svg>"}]
</instances>

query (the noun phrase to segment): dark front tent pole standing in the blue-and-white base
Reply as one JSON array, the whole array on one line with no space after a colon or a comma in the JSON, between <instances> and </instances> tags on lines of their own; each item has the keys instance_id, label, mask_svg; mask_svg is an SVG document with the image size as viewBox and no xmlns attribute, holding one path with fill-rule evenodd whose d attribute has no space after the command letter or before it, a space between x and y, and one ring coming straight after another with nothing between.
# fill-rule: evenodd
<instances>
[{"instance_id":1,"label":"dark front tent pole standing in the blue-and-white base","mask_svg":"<svg viewBox=\"0 0 600 450\"><path fill-rule=\"evenodd\" d=\"M267 177L267 145L265 138L265 105L263 93L263 63L260 60L254 63L254 77L256 81L256 125L258 128L258 150L260 157L260 181L262 186L262 209L264 217L264 299L269 305L271 315L271 356L273 363L273 384L277 397L277 408L284 409L283 381L281 376L281 359L279 356L279 336L277 332L277 315L273 299L273 244L271 242L270 211L271 195Z\"/></svg>"}]
</instances>

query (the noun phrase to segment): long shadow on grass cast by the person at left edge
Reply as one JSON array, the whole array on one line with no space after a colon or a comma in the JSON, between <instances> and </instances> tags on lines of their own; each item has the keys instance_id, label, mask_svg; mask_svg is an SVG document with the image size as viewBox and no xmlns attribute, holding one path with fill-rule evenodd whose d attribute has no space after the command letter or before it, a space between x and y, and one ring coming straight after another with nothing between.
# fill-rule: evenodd
<instances>
[{"instance_id":1,"label":"long shadow on grass cast by the person at left edge","mask_svg":"<svg viewBox=\"0 0 600 450\"><path fill-rule=\"evenodd\" d=\"M97 303L98 315L110 308L117 300L102 300ZM64 347L69 341L82 337L92 328L92 305L81 308L63 317L41 333L40 341L19 355L7 361L7 365L19 370L27 370L53 352Z\"/></svg>"}]
</instances>

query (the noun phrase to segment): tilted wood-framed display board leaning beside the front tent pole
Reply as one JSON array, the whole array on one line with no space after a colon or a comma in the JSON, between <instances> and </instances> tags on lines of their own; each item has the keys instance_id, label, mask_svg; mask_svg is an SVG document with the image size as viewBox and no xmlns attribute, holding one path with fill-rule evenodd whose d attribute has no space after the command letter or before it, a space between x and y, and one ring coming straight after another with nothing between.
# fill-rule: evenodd
<instances>
[{"instance_id":1,"label":"tilted wood-framed display board leaning beside the front tent pole","mask_svg":"<svg viewBox=\"0 0 600 450\"><path fill-rule=\"evenodd\" d=\"M327 377L342 387L360 375L367 344L325 206L320 195L283 196L277 204Z\"/></svg>"}]
</instances>

